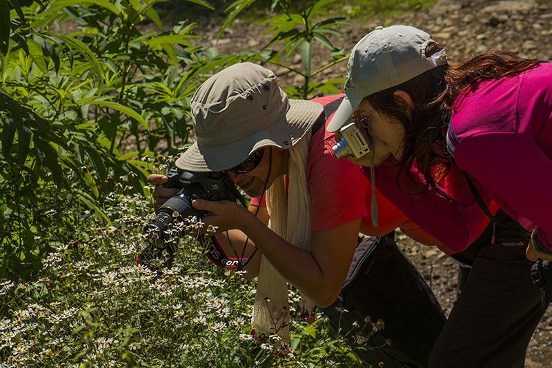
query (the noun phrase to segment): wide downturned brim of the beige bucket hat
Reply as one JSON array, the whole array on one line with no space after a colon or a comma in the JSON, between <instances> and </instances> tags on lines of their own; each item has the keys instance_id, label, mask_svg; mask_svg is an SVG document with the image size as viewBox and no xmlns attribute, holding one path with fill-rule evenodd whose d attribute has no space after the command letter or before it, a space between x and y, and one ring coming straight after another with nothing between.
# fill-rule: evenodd
<instances>
[{"instance_id":1,"label":"wide downturned brim of the beige bucket hat","mask_svg":"<svg viewBox=\"0 0 552 368\"><path fill-rule=\"evenodd\" d=\"M196 142L180 155L176 165L190 172L223 171L242 163L260 147L291 148L313 127L323 110L319 103L290 99L286 115L264 130L221 145Z\"/></svg>"}]
</instances>

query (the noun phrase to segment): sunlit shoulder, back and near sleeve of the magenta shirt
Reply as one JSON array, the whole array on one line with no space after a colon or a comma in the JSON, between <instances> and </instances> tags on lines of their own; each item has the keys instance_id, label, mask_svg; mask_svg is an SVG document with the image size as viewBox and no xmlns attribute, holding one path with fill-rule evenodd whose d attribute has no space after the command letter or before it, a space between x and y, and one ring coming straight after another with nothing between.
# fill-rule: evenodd
<instances>
[{"instance_id":1,"label":"sunlit shoulder, back and near sleeve of the magenta shirt","mask_svg":"<svg viewBox=\"0 0 552 368\"><path fill-rule=\"evenodd\" d=\"M552 250L552 63L473 85L453 105L449 150L486 194Z\"/></svg>"}]
</instances>

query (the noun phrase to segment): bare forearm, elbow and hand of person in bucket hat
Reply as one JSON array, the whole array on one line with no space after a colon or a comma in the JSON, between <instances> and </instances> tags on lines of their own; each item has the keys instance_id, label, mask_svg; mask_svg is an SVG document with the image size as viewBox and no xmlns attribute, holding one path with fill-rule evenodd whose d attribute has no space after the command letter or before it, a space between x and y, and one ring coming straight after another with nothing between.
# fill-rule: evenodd
<instances>
[{"instance_id":1,"label":"bare forearm, elbow and hand of person in bucket hat","mask_svg":"<svg viewBox=\"0 0 552 368\"><path fill-rule=\"evenodd\" d=\"M221 232L241 229L290 284L320 307L333 303L341 292L355 253L360 218L312 232L309 252L277 235L236 203L193 201L192 205L211 212L203 218L206 225L216 225Z\"/></svg>"}]
</instances>

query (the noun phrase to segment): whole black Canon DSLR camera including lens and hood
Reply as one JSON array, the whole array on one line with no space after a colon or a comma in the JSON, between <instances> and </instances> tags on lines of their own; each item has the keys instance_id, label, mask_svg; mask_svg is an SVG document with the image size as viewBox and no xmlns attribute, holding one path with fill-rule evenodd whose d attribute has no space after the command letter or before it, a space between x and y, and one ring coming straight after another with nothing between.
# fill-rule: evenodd
<instances>
[{"instance_id":1,"label":"whole black Canon DSLR camera including lens and hood","mask_svg":"<svg viewBox=\"0 0 552 368\"><path fill-rule=\"evenodd\" d=\"M144 230L148 235L149 244L137 256L136 264L148 268L159 266L157 260L162 258L166 259L161 262L161 265L170 267L172 254L175 252L168 232L172 223L175 221L185 223L188 218L199 219L207 213L192 206L194 199L239 201L246 207L244 196L224 172L189 172L172 167L166 176L168 181L163 186L177 188L180 191L157 209L155 223L147 225ZM168 254L168 258L165 253ZM157 266L154 263L157 263Z\"/></svg>"}]
</instances>

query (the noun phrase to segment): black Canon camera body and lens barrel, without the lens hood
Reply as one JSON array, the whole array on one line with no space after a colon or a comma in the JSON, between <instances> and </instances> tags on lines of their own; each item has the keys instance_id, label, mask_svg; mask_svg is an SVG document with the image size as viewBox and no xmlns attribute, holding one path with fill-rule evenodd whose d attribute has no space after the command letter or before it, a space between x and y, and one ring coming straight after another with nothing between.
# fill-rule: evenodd
<instances>
[{"instance_id":1,"label":"black Canon camera body and lens barrel, without the lens hood","mask_svg":"<svg viewBox=\"0 0 552 368\"><path fill-rule=\"evenodd\" d=\"M163 186L180 191L155 213L155 227L161 233L166 232L169 224L175 220L184 222L186 218L201 218L207 213L192 206L194 199L239 201L246 205L244 196L224 172L189 172L172 167L166 176L168 181Z\"/></svg>"}]
</instances>

